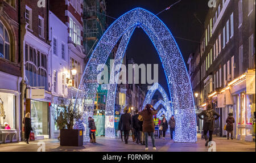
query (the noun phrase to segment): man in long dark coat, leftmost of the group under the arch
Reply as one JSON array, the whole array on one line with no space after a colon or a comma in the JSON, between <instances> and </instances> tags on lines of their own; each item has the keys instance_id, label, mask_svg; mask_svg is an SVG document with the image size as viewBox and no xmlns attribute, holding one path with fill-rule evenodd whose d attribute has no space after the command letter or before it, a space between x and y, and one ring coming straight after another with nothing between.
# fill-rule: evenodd
<instances>
[{"instance_id":1,"label":"man in long dark coat, leftmost of the group under the arch","mask_svg":"<svg viewBox=\"0 0 256 163\"><path fill-rule=\"evenodd\" d=\"M125 144L128 144L129 131L131 130L131 115L128 113L128 109L125 110L125 114L121 115L120 123L122 123L122 130L125 135Z\"/></svg>"}]
</instances>

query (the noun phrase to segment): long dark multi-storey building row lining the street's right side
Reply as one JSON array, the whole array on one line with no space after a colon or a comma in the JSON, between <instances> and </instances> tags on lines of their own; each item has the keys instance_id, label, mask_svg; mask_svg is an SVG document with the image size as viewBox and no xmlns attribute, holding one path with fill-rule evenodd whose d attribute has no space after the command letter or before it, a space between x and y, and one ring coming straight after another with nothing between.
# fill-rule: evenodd
<instances>
[{"instance_id":1,"label":"long dark multi-storey building row lining the street's right side","mask_svg":"<svg viewBox=\"0 0 256 163\"><path fill-rule=\"evenodd\" d=\"M212 104L221 115L215 134L226 136L226 118L233 113L234 136L251 141L255 113L255 0L217 1L216 7L209 9L204 26L201 44L188 61L195 104L201 109Z\"/></svg>"}]
</instances>

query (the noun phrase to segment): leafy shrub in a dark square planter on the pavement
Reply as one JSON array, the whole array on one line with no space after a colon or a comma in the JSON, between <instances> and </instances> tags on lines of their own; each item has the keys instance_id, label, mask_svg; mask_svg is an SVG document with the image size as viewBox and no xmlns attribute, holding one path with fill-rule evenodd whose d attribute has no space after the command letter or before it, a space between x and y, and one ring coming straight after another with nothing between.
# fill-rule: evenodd
<instances>
[{"instance_id":1,"label":"leafy shrub in a dark square planter on the pavement","mask_svg":"<svg viewBox=\"0 0 256 163\"><path fill-rule=\"evenodd\" d=\"M81 111L74 108L73 98L58 99L55 123L60 129L60 145L81 146L83 145L82 129L73 129L74 121L81 119Z\"/></svg>"}]
</instances>

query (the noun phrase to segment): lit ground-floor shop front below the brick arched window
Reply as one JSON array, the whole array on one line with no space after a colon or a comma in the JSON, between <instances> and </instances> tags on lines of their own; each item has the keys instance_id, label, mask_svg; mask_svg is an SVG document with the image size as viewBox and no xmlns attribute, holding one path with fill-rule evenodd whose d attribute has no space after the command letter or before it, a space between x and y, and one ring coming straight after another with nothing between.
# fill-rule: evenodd
<instances>
[{"instance_id":1,"label":"lit ground-floor shop front below the brick arched window","mask_svg":"<svg viewBox=\"0 0 256 163\"><path fill-rule=\"evenodd\" d=\"M20 141L20 80L0 72L0 144Z\"/></svg>"}]
</instances>

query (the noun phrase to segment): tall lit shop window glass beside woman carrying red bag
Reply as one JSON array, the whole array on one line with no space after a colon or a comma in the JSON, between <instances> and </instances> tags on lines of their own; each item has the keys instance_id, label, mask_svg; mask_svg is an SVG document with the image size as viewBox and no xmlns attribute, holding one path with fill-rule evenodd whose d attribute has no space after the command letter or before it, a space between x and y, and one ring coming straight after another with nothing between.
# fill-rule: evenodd
<instances>
[{"instance_id":1,"label":"tall lit shop window glass beside woman carrying red bag","mask_svg":"<svg viewBox=\"0 0 256 163\"><path fill-rule=\"evenodd\" d=\"M31 126L35 136L49 135L47 102L31 100Z\"/></svg>"}]
</instances>

